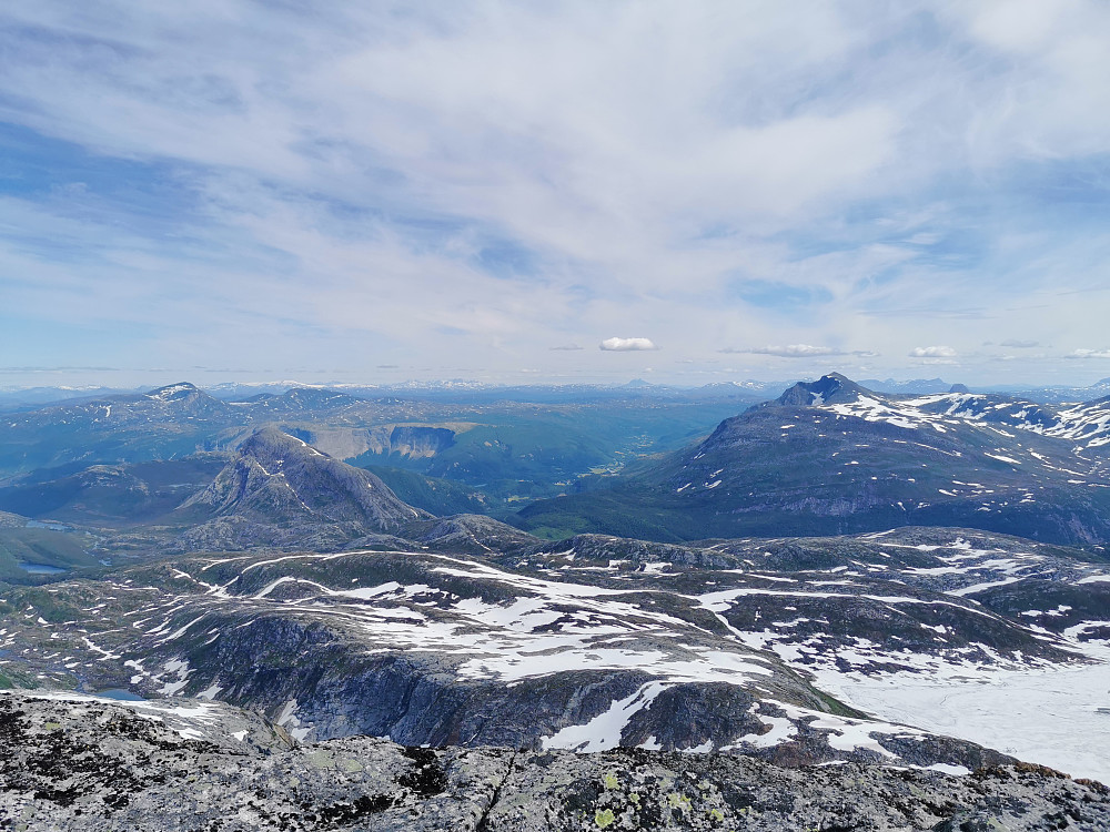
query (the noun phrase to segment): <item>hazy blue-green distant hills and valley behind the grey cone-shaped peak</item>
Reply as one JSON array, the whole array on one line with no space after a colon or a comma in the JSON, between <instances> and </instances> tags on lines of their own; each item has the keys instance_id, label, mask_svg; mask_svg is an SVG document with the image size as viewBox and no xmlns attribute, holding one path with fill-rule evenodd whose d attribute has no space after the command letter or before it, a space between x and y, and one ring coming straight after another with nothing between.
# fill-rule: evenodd
<instances>
[{"instance_id":1,"label":"hazy blue-green distant hills and valley behind the grey cone-shaped peak","mask_svg":"<svg viewBox=\"0 0 1110 832\"><path fill-rule=\"evenodd\" d=\"M584 476L683 447L757 400L731 386L716 393L588 387L246 393L216 397L179 383L6 414L0 505L4 487L41 485L98 465L228 454L256 428L273 426L336 459L408 471L404 487L413 499L426 499L430 510L444 507L445 487L421 485L420 477L454 483L464 503L473 498L474 507L508 515ZM460 505L454 496L448 501Z\"/></svg>"}]
</instances>

